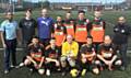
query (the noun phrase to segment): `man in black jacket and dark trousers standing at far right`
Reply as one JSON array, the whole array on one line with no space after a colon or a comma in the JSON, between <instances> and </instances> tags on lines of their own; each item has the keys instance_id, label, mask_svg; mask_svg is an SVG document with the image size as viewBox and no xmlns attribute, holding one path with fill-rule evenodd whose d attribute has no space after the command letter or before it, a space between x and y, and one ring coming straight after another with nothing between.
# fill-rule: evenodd
<instances>
[{"instance_id":1,"label":"man in black jacket and dark trousers standing at far right","mask_svg":"<svg viewBox=\"0 0 131 78\"><path fill-rule=\"evenodd\" d=\"M115 51L119 51L120 57L122 59L122 67L121 69L124 70L127 67L127 48L128 48L128 37L131 27L126 24L124 16L120 16L118 19L118 24L114 27L114 44L115 44Z\"/></svg>"}]
</instances>

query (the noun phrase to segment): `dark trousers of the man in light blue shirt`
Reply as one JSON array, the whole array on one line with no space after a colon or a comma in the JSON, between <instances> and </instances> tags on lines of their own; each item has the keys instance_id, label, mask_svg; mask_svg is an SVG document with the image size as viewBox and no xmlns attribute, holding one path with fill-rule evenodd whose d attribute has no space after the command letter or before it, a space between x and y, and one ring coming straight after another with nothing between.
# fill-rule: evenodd
<instances>
[{"instance_id":1,"label":"dark trousers of the man in light blue shirt","mask_svg":"<svg viewBox=\"0 0 131 78\"><path fill-rule=\"evenodd\" d=\"M16 40L5 40L5 52L4 52L4 69L10 69L10 55L11 64L16 65Z\"/></svg>"}]
</instances>

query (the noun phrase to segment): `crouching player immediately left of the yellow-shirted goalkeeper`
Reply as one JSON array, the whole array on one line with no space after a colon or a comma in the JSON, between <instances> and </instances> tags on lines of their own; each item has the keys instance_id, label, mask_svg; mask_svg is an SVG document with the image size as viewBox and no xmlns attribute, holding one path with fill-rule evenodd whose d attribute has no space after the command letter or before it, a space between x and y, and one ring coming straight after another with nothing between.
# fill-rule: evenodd
<instances>
[{"instance_id":1,"label":"crouching player immediately left of the yellow-shirted goalkeeper","mask_svg":"<svg viewBox=\"0 0 131 78\"><path fill-rule=\"evenodd\" d=\"M50 45L46 47L45 56L47 59L51 59L51 62L46 63L46 75L50 76L50 70L60 70L60 63L59 63L59 56L60 51L59 47L56 45L56 38L52 37L50 40Z\"/></svg>"}]
</instances>

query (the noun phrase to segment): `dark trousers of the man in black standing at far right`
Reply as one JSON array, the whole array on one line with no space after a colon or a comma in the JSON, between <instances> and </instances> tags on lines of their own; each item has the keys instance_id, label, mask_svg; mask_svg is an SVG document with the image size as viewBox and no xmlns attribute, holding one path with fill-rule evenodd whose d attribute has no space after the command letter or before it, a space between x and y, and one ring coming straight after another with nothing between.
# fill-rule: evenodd
<instances>
[{"instance_id":1,"label":"dark trousers of the man in black standing at far right","mask_svg":"<svg viewBox=\"0 0 131 78\"><path fill-rule=\"evenodd\" d=\"M127 67L127 48L128 44L115 44L115 52L119 51L120 58L122 59L122 66Z\"/></svg>"}]
</instances>

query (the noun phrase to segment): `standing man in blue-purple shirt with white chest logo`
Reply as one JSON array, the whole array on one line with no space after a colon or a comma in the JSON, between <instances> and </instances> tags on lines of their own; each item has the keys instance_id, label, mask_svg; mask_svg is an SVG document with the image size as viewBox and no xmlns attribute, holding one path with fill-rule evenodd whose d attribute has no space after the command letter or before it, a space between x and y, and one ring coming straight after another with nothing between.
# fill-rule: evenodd
<instances>
[{"instance_id":1,"label":"standing man in blue-purple shirt with white chest logo","mask_svg":"<svg viewBox=\"0 0 131 78\"><path fill-rule=\"evenodd\" d=\"M52 18L48 16L48 10L41 10L41 16L37 19L38 24L38 37L40 42L47 46L51 37L51 30L53 26Z\"/></svg>"}]
</instances>

